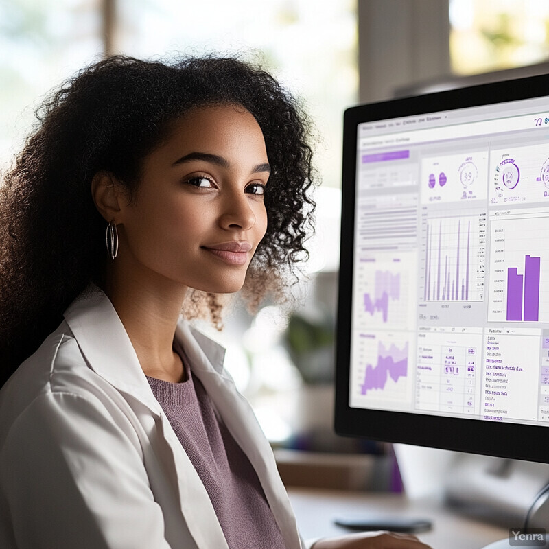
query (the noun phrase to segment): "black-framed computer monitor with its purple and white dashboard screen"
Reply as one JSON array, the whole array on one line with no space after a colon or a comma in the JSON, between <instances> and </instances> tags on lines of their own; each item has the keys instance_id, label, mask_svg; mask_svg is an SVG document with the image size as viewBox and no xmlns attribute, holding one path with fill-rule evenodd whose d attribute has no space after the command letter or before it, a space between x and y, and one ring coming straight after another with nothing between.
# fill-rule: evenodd
<instances>
[{"instance_id":1,"label":"black-framed computer monitor with its purple and white dashboard screen","mask_svg":"<svg viewBox=\"0 0 549 549\"><path fill-rule=\"evenodd\" d=\"M549 76L344 115L336 431L546 461Z\"/></svg>"}]
</instances>

